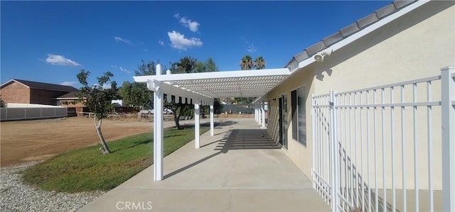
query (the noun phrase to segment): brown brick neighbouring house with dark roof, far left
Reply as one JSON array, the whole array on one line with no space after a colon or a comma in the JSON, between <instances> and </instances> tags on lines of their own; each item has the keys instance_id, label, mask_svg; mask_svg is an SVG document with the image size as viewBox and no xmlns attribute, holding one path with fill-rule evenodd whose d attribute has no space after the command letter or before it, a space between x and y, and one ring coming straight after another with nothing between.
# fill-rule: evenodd
<instances>
[{"instance_id":1,"label":"brown brick neighbouring house with dark roof, far left","mask_svg":"<svg viewBox=\"0 0 455 212\"><path fill-rule=\"evenodd\" d=\"M70 86L23 79L11 79L0 86L1 99L6 103L60 106L55 98L77 91L79 90Z\"/></svg>"}]
</instances>

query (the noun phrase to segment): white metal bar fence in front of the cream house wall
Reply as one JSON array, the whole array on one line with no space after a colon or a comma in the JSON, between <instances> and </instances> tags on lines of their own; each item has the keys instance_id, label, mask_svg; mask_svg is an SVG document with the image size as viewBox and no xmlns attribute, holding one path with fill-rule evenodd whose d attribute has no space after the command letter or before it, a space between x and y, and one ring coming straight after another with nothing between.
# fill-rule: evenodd
<instances>
[{"instance_id":1,"label":"white metal bar fence in front of the cream house wall","mask_svg":"<svg viewBox=\"0 0 455 212\"><path fill-rule=\"evenodd\" d=\"M454 78L313 96L314 189L333 211L455 211Z\"/></svg>"}]
</instances>

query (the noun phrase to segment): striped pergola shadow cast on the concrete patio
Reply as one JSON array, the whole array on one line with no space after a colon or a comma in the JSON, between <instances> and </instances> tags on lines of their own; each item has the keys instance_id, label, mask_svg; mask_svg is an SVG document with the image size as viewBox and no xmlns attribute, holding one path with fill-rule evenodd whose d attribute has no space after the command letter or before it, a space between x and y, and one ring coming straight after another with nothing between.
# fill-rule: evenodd
<instances>
[{"instance_id":1,"label":"striped pergola shadow cast on the concrete patio","mask_svg":"<svg viewBox=\"0 0 455 212\"><path fill-rule=\"evenodd\" d=\"M221 125L225 124L224 122ZM233 123L232 123L233 124ZM202 162L209 160L220 154L226 154L229 150L270 150L270 149L280 149L281 147L275 143L266 133L266 130L259 129L233 129L229 130L221 140L216 140L212 143L205 144L201 147L212 145L213 143L218 143L215 147L215 153L208 155L196 162L181 167L169 174L164 176L164 179L172 177L180 172L190 169L191 167L196 166Z\"/></svg>"}]
</instances>

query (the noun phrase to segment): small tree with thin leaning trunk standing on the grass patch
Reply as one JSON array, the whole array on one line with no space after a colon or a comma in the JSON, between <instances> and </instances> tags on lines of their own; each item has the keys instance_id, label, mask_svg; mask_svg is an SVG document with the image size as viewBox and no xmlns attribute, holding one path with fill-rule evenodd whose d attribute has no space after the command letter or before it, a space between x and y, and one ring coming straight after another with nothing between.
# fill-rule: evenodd
<instances>
[{"instance_id":1,"label":"small tree with thin leaning trunk standing on the grass patch","mask_svg":"<svg viewBox=\"0 0 455 212\"><path fill-rule=\"evenodd\" d=\"M100 151L103 154L107 154L110 153L110 150L105 138L102 136L101 125L103 118L107 118L109 111L112 111L111 101L117 96L117 82L110 80L114 74L105 72L101 77L97 77L98 84L89 86L87 82L89 74L90 72L85 71L85 69L81 69L79 74L77 74L77 79L82 84L79 100L94 113L95 128L101 143ZM109 81L110 87L105 88Z\"/></svg>"}]
</instances>

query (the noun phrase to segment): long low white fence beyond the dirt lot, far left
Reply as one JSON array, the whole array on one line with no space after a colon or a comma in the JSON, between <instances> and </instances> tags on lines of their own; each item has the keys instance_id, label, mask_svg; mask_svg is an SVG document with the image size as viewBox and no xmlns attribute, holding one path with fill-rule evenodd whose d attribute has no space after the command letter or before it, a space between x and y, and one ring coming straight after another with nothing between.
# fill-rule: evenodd
<instances>
[{"instance_id":1,"label":"long low white fence beyond the dirt lot, far left","mask_svg":"<svg viewBox=\"0 0 455 212\"><path fill-rule=\"evenodd\" d=\"M60 118L68 116L68 108L39 104L7 104L0 108L0 121L27 120L39 118Z\"/></svg>"}]
</instances>

